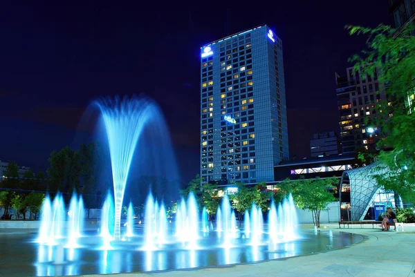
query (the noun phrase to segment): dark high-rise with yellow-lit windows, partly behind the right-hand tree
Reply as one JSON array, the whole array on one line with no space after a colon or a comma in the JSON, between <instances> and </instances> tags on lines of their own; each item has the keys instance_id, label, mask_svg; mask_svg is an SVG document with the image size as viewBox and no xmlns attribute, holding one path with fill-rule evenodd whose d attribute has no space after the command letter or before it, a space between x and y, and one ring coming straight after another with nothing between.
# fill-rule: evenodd
<instances>
[{"instance_id":1,"label":"dark high-rise with yellow-lit windows, partly behind the right-hand tree","mask_svg":"<svg viewBox=\"0 0 415 277\"><path fill-rule=\"evenodd\" d=\"M378 113L376 103L386 100L385 88L378 83L378 73L361 76L360 70L353 74L353 67L347 68L346 76L335 74L343 154L373 151L380 139L379 126L366 124L365 119Z\"/></svg>"}]
</instances>

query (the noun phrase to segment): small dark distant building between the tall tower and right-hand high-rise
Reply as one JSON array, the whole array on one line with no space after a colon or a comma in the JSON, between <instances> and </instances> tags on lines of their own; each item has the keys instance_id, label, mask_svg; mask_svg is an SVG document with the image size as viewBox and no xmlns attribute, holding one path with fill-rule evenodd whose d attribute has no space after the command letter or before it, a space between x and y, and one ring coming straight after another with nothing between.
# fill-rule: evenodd
<instances>
[{"instance_id":1,"label":"small dark distant building between the tall tower and right-hand high-rise","mask_svg":"<svg viewBox=\"0 0 415 277\"><path fill-rule=\"evenodd\" d=\"M340 140L335 132L315 133L310 140L311 157L326 157L341 153Z\"/></svg>"}]
</instances>

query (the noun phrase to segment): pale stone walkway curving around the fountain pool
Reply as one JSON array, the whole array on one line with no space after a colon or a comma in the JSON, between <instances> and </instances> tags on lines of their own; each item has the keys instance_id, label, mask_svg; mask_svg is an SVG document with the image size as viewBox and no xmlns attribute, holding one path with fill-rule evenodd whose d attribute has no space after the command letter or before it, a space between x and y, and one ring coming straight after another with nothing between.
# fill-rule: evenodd
<instances>
[{"instance_id":1,"label":"pale stone walkway curving around the fountain pool","mask_svg":"<svg viewBox=\"0 0 415 277\"><path fill-rule=\"evenodd\" d=\"M164 271L159 273L108 274L108 277L311 277L311 276L414 276L415 226L405 225L405 232L380 229L338 229L337 224L323 225L333 231L349 231L366 236L362 242L319 254L285 260L270 260L247 265ZM89 275L89 277L98 275Z\"/></svg>"}]
</instances>

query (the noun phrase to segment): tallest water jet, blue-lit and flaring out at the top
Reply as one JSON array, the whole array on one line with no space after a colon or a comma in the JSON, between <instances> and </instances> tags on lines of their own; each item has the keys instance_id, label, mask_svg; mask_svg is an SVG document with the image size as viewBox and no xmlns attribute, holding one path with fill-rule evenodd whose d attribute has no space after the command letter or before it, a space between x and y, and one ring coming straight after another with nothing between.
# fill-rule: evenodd
<instances>
[{"instance_id":1,"label":"tallest water jet, blue-lit and flaring out at the top","mask_svg":"<svg viewBox=\"0 0 415 277\"><path fill-rule=\"evenodd\" d=\"M122 200L133 153L154 104L136 98L101 99L96 104L107 131L115 200L114 238L120 239Z\"/></svg>"}]
</instances>

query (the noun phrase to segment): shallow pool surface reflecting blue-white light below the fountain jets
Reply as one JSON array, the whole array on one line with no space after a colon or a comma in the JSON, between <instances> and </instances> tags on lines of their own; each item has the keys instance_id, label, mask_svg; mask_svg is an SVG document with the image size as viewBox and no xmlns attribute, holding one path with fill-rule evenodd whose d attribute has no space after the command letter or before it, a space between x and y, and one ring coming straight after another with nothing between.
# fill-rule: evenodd
<instances>
[{"instance_id":1,"label":"shallow pool surface reflecting blue-white light below the fountain jets","mask_svg":"<svg viewBox=\"0 0 415 277\"><path fill-rule=\"evenodd\" d=\"M26 237L25 237L26 236ZM82 274L113 274L131 271L160 271L167 269L185 269L195 267L212 267L232 265L243 262L259 262L262 260L288 258L302 254L311 254L344 247L363 239L362 236L332 231L321 231L317 235L313 231L305 231L304 239L293 242L273 243L266 245L245 245L234 248L212 247L210 238L205 247L196 250L174 248L157 251L139 251L133 241L116 245L116 250L98 250L91 247L64 248L62 245L37 245L28 242L26 234L1 235L0 244L7 249L7 256L0 258L6 265L12 265L17 257L25 255L10 272L3 270L6 276L55 276ZM85 237L88 241L89 238ZM4 242L4 243L3 243ZM84 243L85 245L85 243ZM2 247L3 248L3 247ZM2 249L3 250L3 249ZM62 262L56 262L56 256L62 256ZM6 269L7 270L7 269Z\"/></svg>"}]
</instances>

